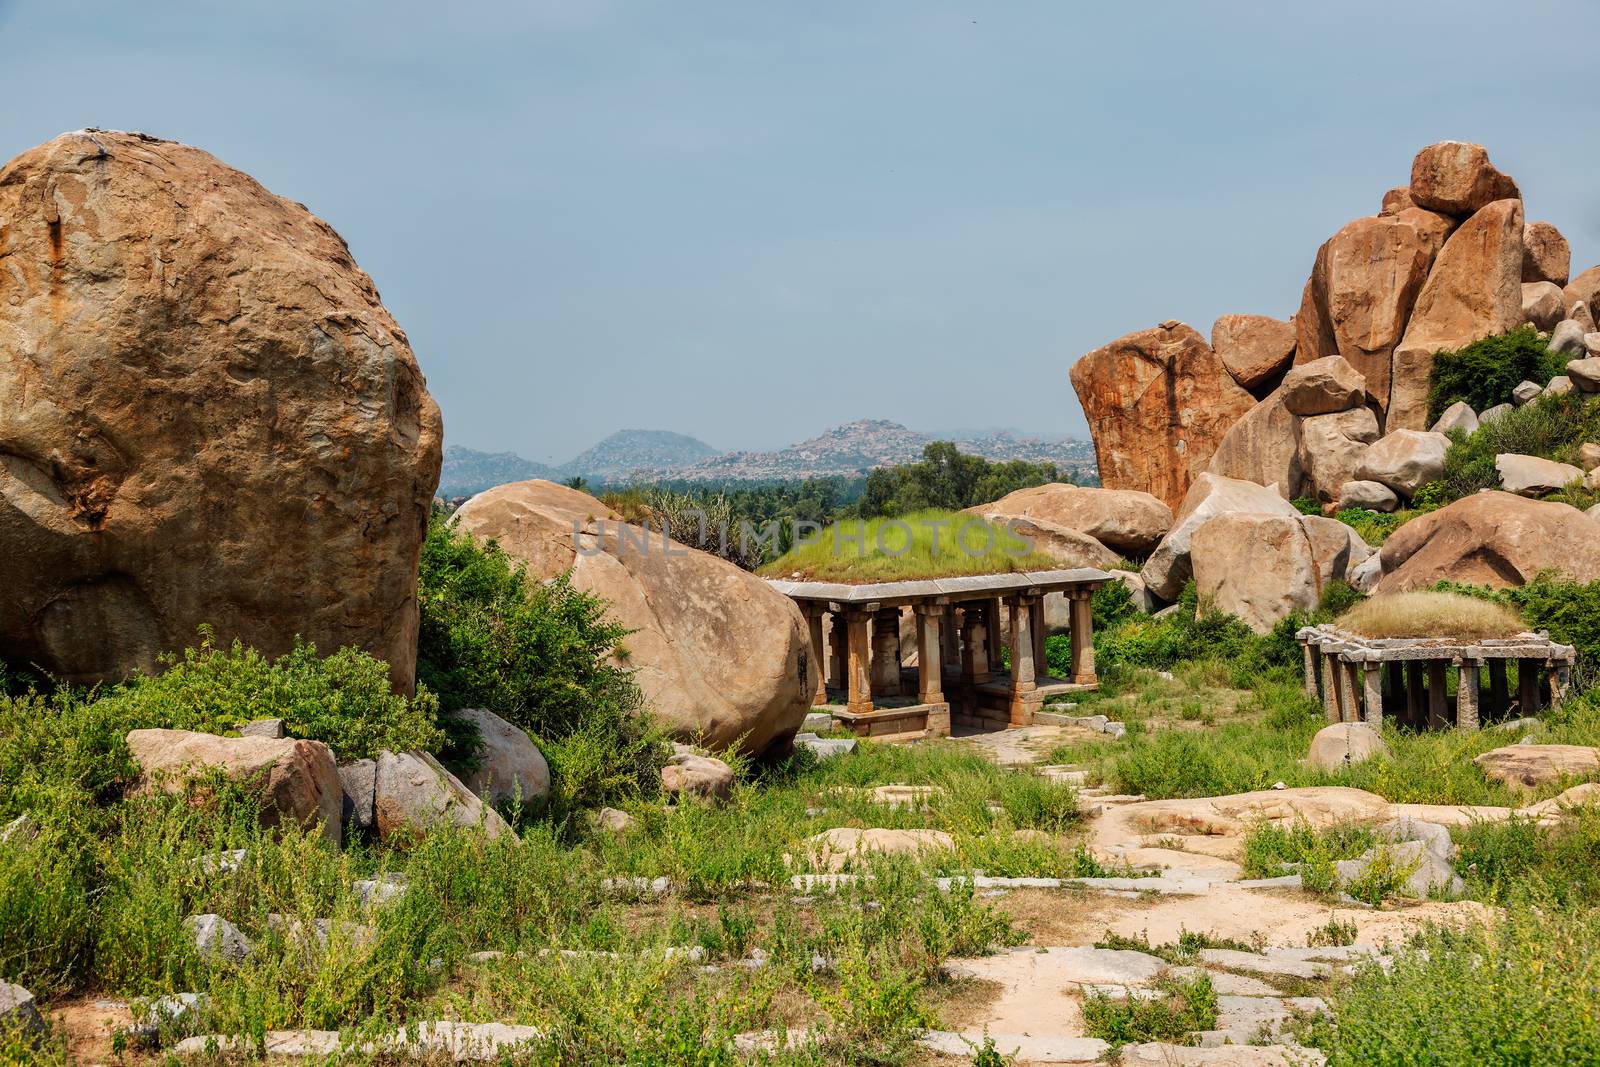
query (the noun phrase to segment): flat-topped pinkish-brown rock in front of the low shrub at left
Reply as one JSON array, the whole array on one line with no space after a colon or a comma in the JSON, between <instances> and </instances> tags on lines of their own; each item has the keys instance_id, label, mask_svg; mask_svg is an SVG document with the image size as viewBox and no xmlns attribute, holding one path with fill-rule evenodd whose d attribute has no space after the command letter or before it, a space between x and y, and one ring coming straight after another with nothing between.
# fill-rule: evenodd
<instances>
[{"instance_id":1,"label":"flat-topped pinkish-brown rock in front of the low shrub at left","mask_svg":"<svg viewBox=\"0 0 1600 1067\"><path fill-rule=\"evenodd\" d=\"M133 729L128 750L149 787L182 790L192 779L221 771L261 795L261 824L314 827L339 843L344 808L339 769L320 741L291 737L219 737L187 729Z\"/></svg>"}]
</instances>

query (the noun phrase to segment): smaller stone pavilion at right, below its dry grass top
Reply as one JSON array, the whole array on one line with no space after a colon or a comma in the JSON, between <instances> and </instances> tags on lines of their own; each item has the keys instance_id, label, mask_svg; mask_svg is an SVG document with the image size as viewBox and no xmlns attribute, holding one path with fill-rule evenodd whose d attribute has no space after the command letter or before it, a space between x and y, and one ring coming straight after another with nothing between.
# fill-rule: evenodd
<instances>
[{"instance_id":1,"label":"smaller stone pavilion at right, below its dry grass top","mask_svg":"<svg viewBox=\"0 0 1600 1067\"><path fill-rule=\"evenodd\" d=\"M1306 649L1306 693L1322 701L1330 723L1378 725L1394 717L1411 729L1450 725L1451 670L1458 672L1456 726L1477 729L1480 720L1493 723L1510 712L1507 662L1517 662L1518 713L1538 715L1541 707L1562 702L1576 657L1573 646L1542 632L1478 640L1373 638L1312 625L1294 637Z\"/></svg>"}]
</instances>

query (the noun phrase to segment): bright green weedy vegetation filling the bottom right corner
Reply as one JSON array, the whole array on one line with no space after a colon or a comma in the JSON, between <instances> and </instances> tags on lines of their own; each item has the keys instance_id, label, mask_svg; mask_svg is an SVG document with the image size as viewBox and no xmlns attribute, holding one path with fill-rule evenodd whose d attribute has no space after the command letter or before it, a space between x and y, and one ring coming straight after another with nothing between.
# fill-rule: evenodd
<instances>
[{"instance_id":1,"label":"bright green weedy vegetation filling the bottom right corner","mask_svg":"<svg viewBox=\"0 0 1600 1067\"><path fill-rule=\"evenodd\" d=\"M1357 965L1306 1040L1331 1067L1600 1062L1600 910L1546 901Z\"/></svg>"}]
</instances>

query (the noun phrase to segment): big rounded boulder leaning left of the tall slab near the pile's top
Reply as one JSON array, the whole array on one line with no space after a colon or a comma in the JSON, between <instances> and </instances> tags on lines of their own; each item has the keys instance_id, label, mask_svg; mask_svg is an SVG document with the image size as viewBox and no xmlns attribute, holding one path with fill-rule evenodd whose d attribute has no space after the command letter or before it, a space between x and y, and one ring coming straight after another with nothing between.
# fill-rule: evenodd
<instances>
[{"instance_id":1,"label":"big rounded boulder leaning left of the tall slab near the pile's top","mask_svg":"<svg viewBox=\"0 0 1600 1067\"><path fill-rule=\"evenodd\" d=\"M1328 238L1294 315L1294 362L1344 357L1386 411L1394 349L1454 227L1453 219L1413 205L1355 219Z\"/></svg>"}]
</instances>

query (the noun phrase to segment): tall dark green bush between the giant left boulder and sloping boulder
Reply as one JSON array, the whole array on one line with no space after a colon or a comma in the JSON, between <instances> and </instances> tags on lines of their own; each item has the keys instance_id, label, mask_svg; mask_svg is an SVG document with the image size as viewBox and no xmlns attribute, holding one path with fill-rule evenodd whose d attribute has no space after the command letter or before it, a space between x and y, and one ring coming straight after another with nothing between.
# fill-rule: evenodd
<instances>
[{"instance_id":1,"label":"tall dark green bush between the giant left boulder and sloping boulder","mask_svg":"<svg viewBox=\"0 0 1600 1067\"><path fill-rule=\"evenodd\" d=\"M565 577L534 582L493 542L429 523L418 581L418 680L446 710L483 707L528 731L550 761L552 801L589 806L659 787L666 745L630 672L627 630ZM475 737L446 757L470 760Z\"/></svg>"}]
</instances>

